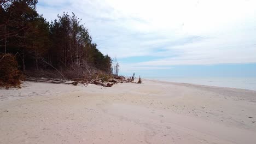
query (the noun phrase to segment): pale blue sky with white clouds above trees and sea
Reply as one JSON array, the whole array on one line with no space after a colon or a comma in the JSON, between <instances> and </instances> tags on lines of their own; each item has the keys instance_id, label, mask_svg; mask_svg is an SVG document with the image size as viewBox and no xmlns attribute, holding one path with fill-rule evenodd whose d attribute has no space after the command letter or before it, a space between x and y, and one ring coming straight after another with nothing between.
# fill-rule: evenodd
<instances>
[{"instance_id":1,"label":"pale blue sky with white clouds above trees and sea","mask_svg":"<svg viewBox=\"0 0 256 144\"><path fill-rule=\"evenodd\" d=\"M255 0L39 0L82 19L121 75L256 77Z\"/></svg>"}]
</instances>

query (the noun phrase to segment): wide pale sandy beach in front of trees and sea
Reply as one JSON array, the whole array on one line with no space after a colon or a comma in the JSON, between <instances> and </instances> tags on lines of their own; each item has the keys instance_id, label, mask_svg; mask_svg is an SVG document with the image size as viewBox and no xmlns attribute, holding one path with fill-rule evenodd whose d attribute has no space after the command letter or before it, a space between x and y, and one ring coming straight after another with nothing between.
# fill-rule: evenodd
<instances>
[{"instance_id":1,"label":"wide pale sandy beach in front of trees and sea","mask_svg":"<svg viewBox=\"0 0 256 144\"><path fill-rule=\"evenodd\" d=\"M256 143L256 91L144 80L0 90L0 143Z\"/></svg>"}]
</instances>

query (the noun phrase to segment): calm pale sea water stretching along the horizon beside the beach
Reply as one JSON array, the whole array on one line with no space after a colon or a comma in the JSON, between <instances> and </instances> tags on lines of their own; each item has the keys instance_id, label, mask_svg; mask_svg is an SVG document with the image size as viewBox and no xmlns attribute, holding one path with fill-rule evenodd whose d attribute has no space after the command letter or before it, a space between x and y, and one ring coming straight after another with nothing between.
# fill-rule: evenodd
<instances>
[{"instance_id":1,"label":"calm pale sea water stretching along the horizon beside the beach","mask_svg":"<svg viewBox=\"0 0 256 144\"><path fill-rule=\"evenodd\" d=\"M196 85L242 88L256 91L256 77L144 77L145 79Z\"/></svg>"}]
</instances>

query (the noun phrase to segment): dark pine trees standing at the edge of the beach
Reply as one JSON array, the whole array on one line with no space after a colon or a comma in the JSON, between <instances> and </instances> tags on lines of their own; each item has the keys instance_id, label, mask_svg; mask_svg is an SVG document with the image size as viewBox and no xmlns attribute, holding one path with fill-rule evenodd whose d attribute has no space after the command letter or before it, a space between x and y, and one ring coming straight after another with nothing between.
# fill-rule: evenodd
<instances>
[{"instance_id":1,"label":"dark pine trees standing at the edge of the beach","mask_svg":"<svg viewBox=\"0 0 256 144\"><path fill-rule=\"evenodd\" d=\"M0 52L12 53L19 69L67 69L71 65L112 74L112 58L93 43L75 14L63 13L46 21L37 0L0 1Z\"/></svg>"}]
</instances>

